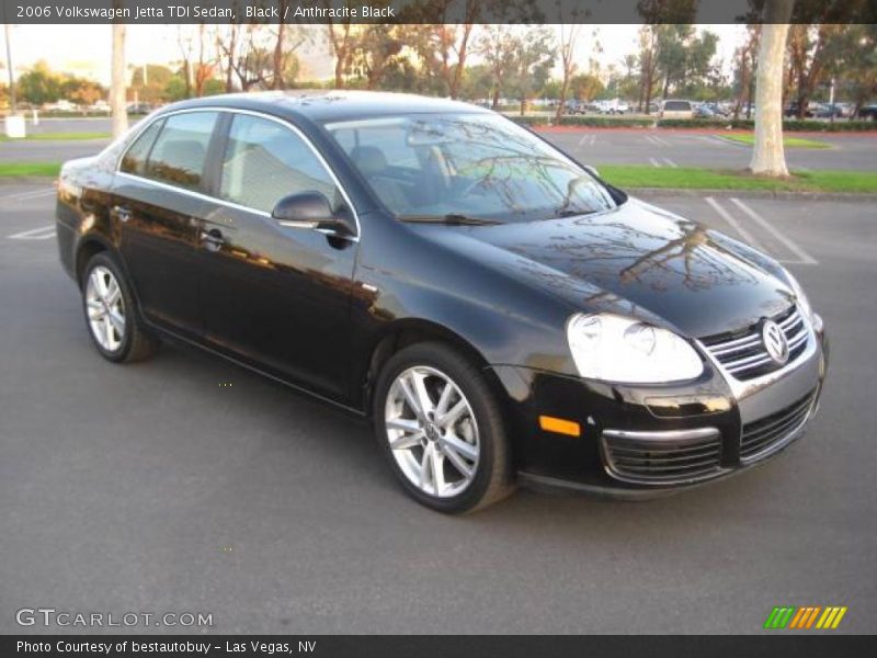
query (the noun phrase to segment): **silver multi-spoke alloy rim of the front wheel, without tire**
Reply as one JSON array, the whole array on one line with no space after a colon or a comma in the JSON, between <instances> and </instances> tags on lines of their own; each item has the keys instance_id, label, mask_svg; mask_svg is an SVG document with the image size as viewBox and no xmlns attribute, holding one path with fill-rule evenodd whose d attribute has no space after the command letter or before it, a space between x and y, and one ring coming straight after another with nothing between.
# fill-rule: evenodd
<instances>
[{"instance_id":1,"label":"silver multi-spoke alloy rim of the front wheel, without tire","mask_svg":"<svg viewBox=\"0 0 877 658\"><path fill-rule=\"evenodd\" d=\"M425 365L399 374L384 420L396 463L424 494L451 498L478 472L478 422L469 400L446 374Z\"/></svg>"}]
</instances>

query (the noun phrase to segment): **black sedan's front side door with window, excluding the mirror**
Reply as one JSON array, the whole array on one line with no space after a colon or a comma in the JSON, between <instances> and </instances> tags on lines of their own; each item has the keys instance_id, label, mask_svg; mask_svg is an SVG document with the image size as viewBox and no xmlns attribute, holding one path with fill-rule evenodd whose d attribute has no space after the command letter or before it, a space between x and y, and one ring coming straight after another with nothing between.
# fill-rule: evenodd
<instances>
[{"instance_id":1,"label":"black sedan's front side door with window, excluding the mirror","mask_svg":"<svg viewBox=\"0 0 877 658\"><path fill-rule=\"evenodd\" d=\"M356 239L271 217L288 194L318 191L353 213L328 166L285 122L228 117L200 249L206 339L235 358L333 399L349 397Z\"/></svg>"}]
</instances>

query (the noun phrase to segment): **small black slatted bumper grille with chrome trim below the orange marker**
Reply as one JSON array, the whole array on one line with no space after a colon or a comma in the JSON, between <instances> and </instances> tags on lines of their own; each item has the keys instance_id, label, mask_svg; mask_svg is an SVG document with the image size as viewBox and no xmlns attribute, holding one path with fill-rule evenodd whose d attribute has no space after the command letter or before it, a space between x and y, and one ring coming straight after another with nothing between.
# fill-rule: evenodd
<instances>
[{"instance_id":1,"label":"small black slatted bumper grille with chrome trim below the orange marker","mask_svg":"<svg viewBox=\"0 0 877 658\"><path fill-rule=\"evenodd\" d=\"M633 483L692 481L721 470L721 435L713 428L665 433L606 430L603 449L612 475Z\"/></svg>"}]
</instances>

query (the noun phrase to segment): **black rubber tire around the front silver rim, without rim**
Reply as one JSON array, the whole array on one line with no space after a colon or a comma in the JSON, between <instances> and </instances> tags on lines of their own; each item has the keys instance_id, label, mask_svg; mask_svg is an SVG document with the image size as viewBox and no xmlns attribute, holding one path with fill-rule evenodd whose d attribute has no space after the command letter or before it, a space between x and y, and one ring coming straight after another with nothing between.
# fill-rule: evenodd
<instances>
[{"instance_id":1,"label":"black rubber tire around the front silver rim, without rim","mask_svg":"<svg viewBox=\"0 0 877 658\"><path fill-rule=\"evenodd\" d=\"M397 463L385 424L387 396L396 378L414 366L441 371L453 379L467 398L479 434L479 458L471 483L453 497L440 498L412 484ZM441 342L415 343L394 354L377 379L374 396L374 430L381 453L402 487L421 504L440 512L474 512L498 502L514 491L511 453L505 426L496 395L481 371L458 351Z\"/></svg>"}]
</instances>

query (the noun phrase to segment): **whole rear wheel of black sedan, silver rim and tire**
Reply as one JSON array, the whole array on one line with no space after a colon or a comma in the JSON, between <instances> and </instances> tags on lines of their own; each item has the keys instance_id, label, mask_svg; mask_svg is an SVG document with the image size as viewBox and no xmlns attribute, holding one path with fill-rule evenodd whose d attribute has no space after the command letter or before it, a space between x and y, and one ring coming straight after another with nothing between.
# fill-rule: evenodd
<instances>
[{"instance_id":1,"label":"whole rear wheel of black sedan, silver rim and tire","mask_svg":"<svg viewBox=\"0 0 877 658\"><path fill-rule=\"evenodd\" d=\"M114 362L150 356L158 340L143 326L122 269L106 252L96 253L82 274L82 307L94 347Z\"/></svg>"}]
</instances>

